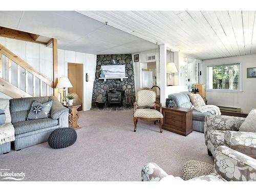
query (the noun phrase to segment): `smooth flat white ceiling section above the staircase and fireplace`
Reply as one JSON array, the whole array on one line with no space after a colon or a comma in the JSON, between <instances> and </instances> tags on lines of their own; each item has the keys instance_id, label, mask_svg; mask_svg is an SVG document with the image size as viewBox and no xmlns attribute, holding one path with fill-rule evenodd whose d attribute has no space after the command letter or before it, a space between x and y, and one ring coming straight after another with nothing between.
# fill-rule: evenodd
<instances>
[{"instance_id":1,"label":"smooth flat white ceiling section above the staircase and fireplace","mask_svg":"<svg viewBox=\"0 0 256 192\"><path fill-rule=\"evenodd\" d=\"M0 26L58 39L58 48L83 53L112 54L106 50L118 46L119 53L134 53L156 49L157 46L140 37L105 25L76 11L0 11ZM124 47L138 41L136 49ZM123 48L123 50L122 50Z\"/></svg>"}]
</instances>

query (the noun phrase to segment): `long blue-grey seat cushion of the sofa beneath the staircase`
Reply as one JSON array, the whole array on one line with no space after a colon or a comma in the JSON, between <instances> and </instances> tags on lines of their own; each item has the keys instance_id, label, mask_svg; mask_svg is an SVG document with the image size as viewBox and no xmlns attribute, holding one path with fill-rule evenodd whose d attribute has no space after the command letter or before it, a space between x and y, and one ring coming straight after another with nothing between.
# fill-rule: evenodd
<instances>
[{"instance_id":1,"label":"long blue-grey seat cushion of the sofa beneath the staircase","mask_svg":"<svg viewBox=\"0 0 256 192\"><path fill-rule=\"evenodd\" d=\"M15 135L23 134L27 132L32 132L47 127L55 126L58 124L57 119L47 118L47 119L35 119L29 121L19 121L13 123L15 129Z\"/></svg>"}]
</instances>

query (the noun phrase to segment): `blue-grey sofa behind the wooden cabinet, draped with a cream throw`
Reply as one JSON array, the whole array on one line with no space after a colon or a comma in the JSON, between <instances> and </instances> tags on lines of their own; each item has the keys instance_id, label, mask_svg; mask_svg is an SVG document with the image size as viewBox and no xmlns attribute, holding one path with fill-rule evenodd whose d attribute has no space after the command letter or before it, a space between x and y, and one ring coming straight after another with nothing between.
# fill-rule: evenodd
<instances>
[{"instance_id":1,"label":"blue-grey sofa behind the wooden cabinet, draped with a cream throw","mask_svg":"<svg viewBox=\"0 0 256 192\"><path fill-rule=\"evenodd\" d=\"M189 99L190 92L185 91L181 93L174 93L168 95L168 98L172 98L175 102L176 106L179 106L181 108L191 108L192 103ZM201 113L199 111L194 110L193 111L193 130L204 133L204 120L206 115L211 115L210 113Z\"/></svg>"}]
</instances>

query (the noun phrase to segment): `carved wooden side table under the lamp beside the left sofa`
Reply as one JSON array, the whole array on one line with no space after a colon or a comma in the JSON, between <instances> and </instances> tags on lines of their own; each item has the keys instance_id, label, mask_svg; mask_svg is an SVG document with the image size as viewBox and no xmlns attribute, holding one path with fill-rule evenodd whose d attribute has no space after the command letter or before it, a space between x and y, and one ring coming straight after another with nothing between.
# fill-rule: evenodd
<instances>
[{"instance_id":1,"label":"carved wooden side table under the lamp beside the left sofa","mask_svg":"<svg viewBox=\"0 0 256 192\"><path fill-rule=\"evenodd\" d=\"M66 108L69 108L69 127L73 128L74 130L80 129L79 125L77 124L77 121L79 119L79 114L77 109L81 106L81 103L73 103L68 104L65 103L63 106L66 106Z\"/></svg>"}]
</instances>

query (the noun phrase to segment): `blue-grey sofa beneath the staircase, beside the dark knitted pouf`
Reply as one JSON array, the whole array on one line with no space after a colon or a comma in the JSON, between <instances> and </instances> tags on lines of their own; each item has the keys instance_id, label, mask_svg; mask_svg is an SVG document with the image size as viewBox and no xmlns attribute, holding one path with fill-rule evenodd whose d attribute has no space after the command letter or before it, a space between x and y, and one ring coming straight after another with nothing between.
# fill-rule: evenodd
<instances>
[{"instance_id":1,"label":"blue-grey sofa beneath the staircase, beside the dark knitted pouf","mask_svg":"<svg viewBox=\"0 0 256 192\"><path fill-rule=\"evenodd\" d=\"M34 100L45 103L49 99L53 99L49 118L27 120ZM53 130L69 126L69 110L54 96L10 99L10 113L15 130L15 151L45 142ZM10 142L0 145L0 154L9 152L10 148Z\"/></svg>"}]
</instances>

